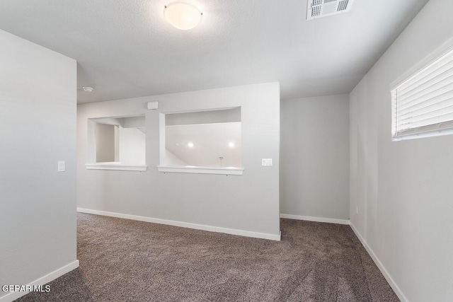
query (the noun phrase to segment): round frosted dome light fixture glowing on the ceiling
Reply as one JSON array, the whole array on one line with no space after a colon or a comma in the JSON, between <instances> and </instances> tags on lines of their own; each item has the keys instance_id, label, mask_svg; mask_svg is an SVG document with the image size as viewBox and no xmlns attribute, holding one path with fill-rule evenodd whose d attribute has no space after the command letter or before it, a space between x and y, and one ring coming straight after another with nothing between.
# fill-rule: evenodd
<instances>
[{"instance_id":1,"label":"round frosted dome light fixture glowing on the ceiling","mask_svg":"<svg viewBox=\"0 0 453 302\"><path fill-rule=\"evenodd\" d=\"M180 30L195 28L202 16L200 9L188 1L173 1L164 8L164 17L168 23Z\"/></svg>"}]
</instances>

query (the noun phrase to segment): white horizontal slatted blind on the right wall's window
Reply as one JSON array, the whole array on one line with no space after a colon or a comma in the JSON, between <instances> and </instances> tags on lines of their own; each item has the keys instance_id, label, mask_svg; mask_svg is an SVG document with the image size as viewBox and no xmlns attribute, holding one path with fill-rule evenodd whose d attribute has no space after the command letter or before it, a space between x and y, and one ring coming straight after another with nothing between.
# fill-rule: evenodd
<instances>
[{"instance_id":1,"label":"white horizontal slatted blind on the right wall's window","mask_svg":"<svg viewBox=\"0 0 453 302\"><path fill-rule=\"evenodd\" d=\"M393 135L453 129L453 50L391 91Z\"/></svg>"}]
</instances>

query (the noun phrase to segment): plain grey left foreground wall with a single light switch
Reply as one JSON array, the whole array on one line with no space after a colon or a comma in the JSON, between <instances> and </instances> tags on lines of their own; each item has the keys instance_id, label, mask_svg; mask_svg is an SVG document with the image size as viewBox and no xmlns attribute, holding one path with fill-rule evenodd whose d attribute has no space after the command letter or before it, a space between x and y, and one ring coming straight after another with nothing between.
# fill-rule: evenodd
<instances>
[{"instance_id":1,"label":"plain grey left foreground wall with a single light switch","mask_svg":"<svg viewBox=\"0 0 453 302\"><path fill-rule=\"evenodd\" d=\"M76 62L0 45L0 284L30 284L76 261Z\"/></svg>"}]
</instances>

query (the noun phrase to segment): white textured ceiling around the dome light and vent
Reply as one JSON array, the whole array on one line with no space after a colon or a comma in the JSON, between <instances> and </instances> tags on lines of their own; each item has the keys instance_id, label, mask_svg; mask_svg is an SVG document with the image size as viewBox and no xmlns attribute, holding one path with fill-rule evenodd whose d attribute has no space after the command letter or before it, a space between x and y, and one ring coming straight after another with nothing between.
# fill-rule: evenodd
<instances>
[{"instance_id":1,"label":"white textured ceiling around the dome light and vent","mask_svg":"<svg viewBox=\"0 0 453 302\"><path fill-rule=\"evenodd\" d=\"M350 92L428 0L311 21L306 0L193 0L188 31L164 20L169 1L1 0L0 28L76 59L79 103L269 81L287 99Z\"/></svg>"}]
</instances>

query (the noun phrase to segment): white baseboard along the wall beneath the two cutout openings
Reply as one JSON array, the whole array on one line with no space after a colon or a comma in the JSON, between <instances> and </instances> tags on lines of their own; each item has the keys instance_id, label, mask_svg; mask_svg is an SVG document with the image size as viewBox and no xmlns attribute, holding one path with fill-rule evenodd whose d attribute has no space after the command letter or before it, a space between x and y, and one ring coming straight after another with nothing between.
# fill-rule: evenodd
<instances>
[{"instance_id":1,"label":"white baseboard along the wall beneath the two cutout openings","mask_svg":"<svg viewBox=\"0 0 453 302\"><path fill-rule=\"evenodd\" d=\"M145 221L145 222L152 222L152 223L160 223L160 224L166 224L168 226L180 226L183 228L194 228L196 230L210 231L210 232L217 232L217 233L226 233L226 234L231 234L231 235L239 235L239 236L252 237L252 238L262 238L262 239L277 240L277 241L280 241L280 238L281 238L281 233L279 233L279 235L273 235L273 234L268 234L268 233L241 231L241 230L236 230L234 228L221 228L219 226L205 226L204 224L188 223L188 222L158 219L158 218L151 218L151 217L144 217L144 216L135 216L135 215L129 215L129 214L120 214L120 213L115 213L115 212L110 212L110 211L98 211L98 210L83 209L83 208L77 208L77 211L79 211L81 213L96 214L96 215L102 215L102 216L111 216L111 217L117 217L117 218L122 218L122 219L131 219L131 220L138 220L138 221Z\"/></svg>"}]
</instances>

